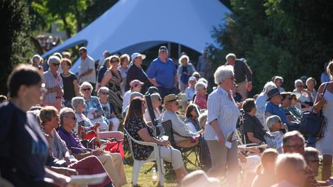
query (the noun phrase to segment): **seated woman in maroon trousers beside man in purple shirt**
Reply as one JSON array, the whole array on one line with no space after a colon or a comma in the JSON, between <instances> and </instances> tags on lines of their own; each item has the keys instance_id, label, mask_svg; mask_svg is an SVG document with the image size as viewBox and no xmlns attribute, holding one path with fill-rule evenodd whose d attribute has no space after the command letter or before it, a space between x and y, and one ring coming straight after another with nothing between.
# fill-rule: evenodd
<instances>
[{"instance_id":1,"label":"seated woman in maroon trousers beside man in purple shirt","mask_svg":"<svg viewBox=\"0 0 333 187\"><path fill-rule=\"evenodd\" d=\"M49 141L51 155L54 157L50 157L46 163L46 166L50 166L50 170L62 175L75 175L76 172L79 175L93 175L106 172L101 161L94 155L78 161L69 154L65 141L62 141L58 132L56 132L56 128L59 127L59 116L55 107L42 108L40 110L40 120L42 121L42 130L48 135L46 139ZM56 161L55 159L59 160ZM65 166L66 168L57 166ZM106 177L103 184L98 186L112 186L110 177Z\"/></svg>"}]
</instances>

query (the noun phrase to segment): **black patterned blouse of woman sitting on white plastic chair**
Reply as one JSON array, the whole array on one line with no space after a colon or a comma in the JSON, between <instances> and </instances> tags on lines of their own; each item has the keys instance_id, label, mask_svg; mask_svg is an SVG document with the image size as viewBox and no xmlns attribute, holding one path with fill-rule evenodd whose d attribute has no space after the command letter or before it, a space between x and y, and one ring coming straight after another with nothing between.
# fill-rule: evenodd
<instances>
[{"instance_id":1,"label":"black patterned blouse of woman sitting on white plastic chair","mask_svg":"<svg viewBox=\"0 0 333 187\"><path fill-rule=\"evenodd\" d=\"M137 132L143 128L148 130L149 135L155 136L153 129L149 127L141 118L134 116L128 120L128 123L125 124L125 128L134 139L137 141L143 141ZM132 142L134 157L137 160L146 160L153 152L154 148L149 145L139 145Z\"/></svg>"}]
</instances>

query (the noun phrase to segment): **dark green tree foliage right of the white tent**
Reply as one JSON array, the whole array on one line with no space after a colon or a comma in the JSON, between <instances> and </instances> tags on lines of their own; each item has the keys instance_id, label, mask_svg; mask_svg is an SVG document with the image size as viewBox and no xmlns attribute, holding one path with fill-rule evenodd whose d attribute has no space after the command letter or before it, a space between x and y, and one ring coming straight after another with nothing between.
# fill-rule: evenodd
<instances>
[{"instance_id":1,"label":"dark green tree foliage right of the white tent","mask_svg":"<svg viewBox=\"0 0 333 187\"><path fill-rule=\"evenodd\" d=\"M333 3L318 0L231 0L232 15L214 28L219 46L210 46L215 66L227 53L245 57L254 73L254 93L273 75L294 80L307 75L320 80L333 55Z\"/></svg>"}]
</instances>

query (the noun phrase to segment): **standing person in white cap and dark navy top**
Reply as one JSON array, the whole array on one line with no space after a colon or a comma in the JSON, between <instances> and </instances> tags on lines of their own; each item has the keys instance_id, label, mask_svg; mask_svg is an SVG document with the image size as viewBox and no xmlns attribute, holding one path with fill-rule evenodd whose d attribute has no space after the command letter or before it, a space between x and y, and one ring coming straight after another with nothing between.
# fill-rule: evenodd
<instances>
[{"instance_id":1,"label":"standing person in white cap and dark navy top","mask_svg":"<svg viewBox=\"0 0 333 187\"><path fill-rule=\"evenodd\" d=\"M144 94L148 87L151 86L151 82L149 82L147 74L142 69L142 60L146 58L146 55L133 53L130 57L132 59L132 65L127 71L125 91L130 90L130 82L133 80L139 80L140 82L144 83L140 91L141 94Z\"/></svg>"}]
</instances>

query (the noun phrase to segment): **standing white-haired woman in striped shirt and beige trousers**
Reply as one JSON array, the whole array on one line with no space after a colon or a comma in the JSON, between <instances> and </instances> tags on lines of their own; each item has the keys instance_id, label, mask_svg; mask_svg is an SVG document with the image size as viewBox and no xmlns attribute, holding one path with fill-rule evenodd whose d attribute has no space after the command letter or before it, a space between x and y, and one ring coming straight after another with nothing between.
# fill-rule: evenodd
<instances>
[{"instance_id":1,"label":"standing white-haired woman in striped shirt and beige trousers","mask_svg":"<svg viewBox=\"0 0 333 187\"><path fill-rule=\"evenodd\" d=\"M205 127L205 140L212 157L212 168L209 174L213 177L225 177L226 174L228 186L237 186L239 163L234 133L239 109L232 98L234 68L229 65L219 66L214 73L214 78L219 86L208 96L208 117ZM232 134L230 140L228 134ZM227 139L231 142L231 148L225 146Z\"/></svg>"}]
</instances>

